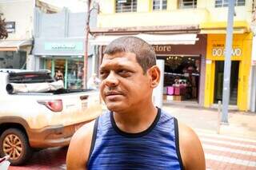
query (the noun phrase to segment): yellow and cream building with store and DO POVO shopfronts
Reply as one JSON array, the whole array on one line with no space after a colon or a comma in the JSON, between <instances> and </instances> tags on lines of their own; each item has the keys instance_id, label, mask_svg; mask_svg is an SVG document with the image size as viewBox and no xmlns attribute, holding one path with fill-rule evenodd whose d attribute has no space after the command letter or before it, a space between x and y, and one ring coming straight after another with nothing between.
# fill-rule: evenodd
<instances>
[{"instance_id":1,"label":"yellow and cream building with store and DO POVO shopfronts","mask_svg":"<svg viewBox=\"0 0 256 170\"><path fill-rule=\"evenodd\" d=\"M230 105L247 110L253 0L235 4ZM166 61L165 86L178 79L190 87L186 92L179 89L188 94L178 100L205 107L221 100L226 0L102 0L99 5L92 43L106 45L127 34L144 38L154 45L158 59Z\"/></svg>"}]
</instances>

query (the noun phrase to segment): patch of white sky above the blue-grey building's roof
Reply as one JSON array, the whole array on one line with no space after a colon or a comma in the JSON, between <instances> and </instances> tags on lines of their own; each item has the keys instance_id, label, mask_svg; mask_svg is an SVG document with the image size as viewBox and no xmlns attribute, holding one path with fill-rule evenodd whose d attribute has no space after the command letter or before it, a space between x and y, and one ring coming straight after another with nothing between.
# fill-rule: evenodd
<instances>
[{"instance_id":1,"label":"patch of white sky above the blue-grey building's roof","mask_svg":"<svg viewBox=\"0 0 256 170\"><path fill-rule=\"evenodd\" d=\"M86 0L40 0L47 2L50 5L62 8L66 6L72 12L84 12L86 11Z\"/></svg>"}]
</instances>

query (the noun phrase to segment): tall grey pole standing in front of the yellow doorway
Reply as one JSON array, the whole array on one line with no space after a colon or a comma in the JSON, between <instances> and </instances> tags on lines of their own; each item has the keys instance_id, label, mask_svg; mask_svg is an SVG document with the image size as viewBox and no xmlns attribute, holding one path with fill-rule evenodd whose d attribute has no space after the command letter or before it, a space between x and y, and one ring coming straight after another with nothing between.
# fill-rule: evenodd
<instances>
[{"instance_id":1,"label":"tall grey pole standing in front of the yellow doorway","mask_svg":"<svg viewBox=\"0 0 256 170\"><path fill-rule=\"evenodd\" d=\"M233 22L234 22L234 0L229 0L229 10L226 27L226 53L224 65L224 80L222 93L222 123L228 124L228 107L230 103L230 69L233 42Z\"/></svg>"}]
</instances>

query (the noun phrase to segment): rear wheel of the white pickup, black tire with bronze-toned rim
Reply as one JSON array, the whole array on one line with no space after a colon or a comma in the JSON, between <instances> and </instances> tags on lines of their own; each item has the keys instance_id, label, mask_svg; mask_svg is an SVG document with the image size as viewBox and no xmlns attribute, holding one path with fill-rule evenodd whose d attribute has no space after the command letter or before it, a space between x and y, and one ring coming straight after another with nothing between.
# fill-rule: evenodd
<instances>
[{"instance_id":1,"label":"rear wheel of the white pickup, black tire with bronze-toned rim","mask_svg":"<svg viewBox=\"0 0 256 170\"><path fill-rule=\"evenodd\" d=\"M5 145L4 145L5 144ZM10 146L11 144L15 146ZM18 128L8 128L0 136L0 157L10 155L11 165L27 162L32 156L32 149L26 134Z\"/></svg>"}]
</instances>

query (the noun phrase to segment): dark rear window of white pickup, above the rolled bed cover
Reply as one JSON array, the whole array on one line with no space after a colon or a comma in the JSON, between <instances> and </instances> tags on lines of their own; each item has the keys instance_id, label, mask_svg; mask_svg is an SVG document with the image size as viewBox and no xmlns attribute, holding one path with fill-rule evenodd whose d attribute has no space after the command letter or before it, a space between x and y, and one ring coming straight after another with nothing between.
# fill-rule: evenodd
<instances>
[{"instance_id":1,"label":"dark rear window of white pickup, above the rolled bed cover","mask_svg":"<svg viewBox=\"0 0 256 170\"><path fill-rule=\"evenodd\" d=\"M10 73L9 83L42 83L53 82L50 73Z\"/></svg>"}]
</instances>

